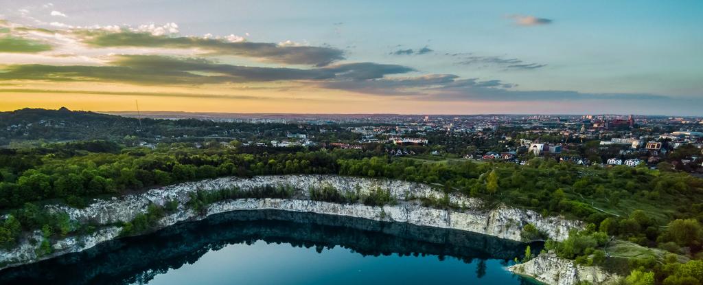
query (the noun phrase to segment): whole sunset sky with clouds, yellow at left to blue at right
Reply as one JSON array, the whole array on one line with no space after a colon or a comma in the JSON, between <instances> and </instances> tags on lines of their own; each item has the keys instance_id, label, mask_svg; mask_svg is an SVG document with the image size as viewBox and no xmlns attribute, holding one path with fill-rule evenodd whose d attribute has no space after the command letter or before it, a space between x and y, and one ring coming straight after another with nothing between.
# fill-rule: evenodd
<instances>
[{"instance_id":1,"label":"whole sunset sky with clouds, yellow at left to blue at right","mask_svg":"<svg viewBox=\"0 0 703 285\"><path fill-rule=\"evenodd\" d=\"M703 1L0 0L0 110L703 115Z\"/></svg>"}]
</instances>

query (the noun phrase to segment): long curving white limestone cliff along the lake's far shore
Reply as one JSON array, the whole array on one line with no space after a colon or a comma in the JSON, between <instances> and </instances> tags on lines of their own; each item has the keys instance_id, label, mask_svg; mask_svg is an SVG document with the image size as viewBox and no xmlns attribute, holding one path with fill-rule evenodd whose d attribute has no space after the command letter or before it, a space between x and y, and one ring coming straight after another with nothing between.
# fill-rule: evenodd
<instances>
[{"instance_id":1,"label":"long curving white limestone cliff along the lake's far shore","mask_svg":"<svg viewBox=\"0 0 703 285\"><path fill-rule=\"evenodd\" d=\"M477 198L450 195L451 203L461 205L463 210L440 210L425 208L417 203L405 201L414 198L442 198L441 191L426 184L403 182L390 179L370 179L360 177L341 177L336 175L284 175L262 176L254 178L224 177L206 179L200 182L186 182L172 186L151 189L143 194L134 194L101 200L91 203L86 208L75 209L67 206L49 205L49 210L67 213L72 220L79 222L95 222L97 224L117 224L129 222L139 213L146 213L148 205L154 203L164 205L168 201L178 201L179 210L163 217L159 224L168 227L178 222L199 220L204 218L193 210L187 209L185 203L189 194L202 191L217 191L233 186L246 191L260 186L290 185L297 189L295 198L257 198L220 201L209 205L207 215L225 213L233 210L275 209L297 212L320 213L360 217L368 220L407 222L421 226L459 229L479 234L488 234L502 239L520 241L520 232L525 224L534 224L537 229L548 234L551 239L566 239L570 229L582 227L581 222L569 221L558 217L542 217L531 210L521 210L499 207L493 210L482 209L482 201ZM374 207L362 204L338 204L321 201L310 201L308 189L323 185L334 186L339 191L359 191L362 194L381 188L389 190L399 203ZM82 251L95 246L102 241L115 239L120 227L106 227L91 236L69 237L56 241L54 253L37 258L34 253L39 246L32 244L29 239L22 241L20 246L11 250L0 250L0 268L35 262L53 256ZM37 235L39 233L35 233ZM40 239L38 239L40 240Z\"/></svg>"}]
</instances>

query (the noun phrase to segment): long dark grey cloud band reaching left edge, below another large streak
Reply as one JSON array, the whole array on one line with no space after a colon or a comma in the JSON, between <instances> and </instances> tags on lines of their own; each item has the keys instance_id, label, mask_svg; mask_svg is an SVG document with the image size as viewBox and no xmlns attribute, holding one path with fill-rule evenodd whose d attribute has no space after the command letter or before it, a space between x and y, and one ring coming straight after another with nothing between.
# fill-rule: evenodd
<instances>
[{"instance_id":1,"label":"long dark grey cloud band reaching left edge, below another large streak","mask_svg":"<svg viewBox=\"0 0 703 285\"><path fill-rule=\"evenodd\" d=\"M217 84L279 80L363 81L413 71L401 65L346 63L323 68L264 68L228 65L203 58L116 56L107 66L9 65L0 80L126 82L132 84Z\"/></svg>"}]
</instances>

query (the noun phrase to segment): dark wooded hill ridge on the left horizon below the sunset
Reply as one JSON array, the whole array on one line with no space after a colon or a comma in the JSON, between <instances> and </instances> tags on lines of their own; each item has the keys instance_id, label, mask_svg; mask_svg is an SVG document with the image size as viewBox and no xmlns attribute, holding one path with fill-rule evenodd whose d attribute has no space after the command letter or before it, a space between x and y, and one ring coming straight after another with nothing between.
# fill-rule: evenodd
<instances>
[{"instance_id":1,"label":"dark wooded hill ridge on the left horizon below the sunset","mask_svg":"<svg viewBox=\"0 0 703 285\"><path fill-rule=\"evenodd\" d=\"M331 132L321 132L321 128ZM359 138L339 125L215 122L212 120L160 120L126 118L93 112L25 108L0 112L0 145L27 141L106 139L131 145L134 136L161 141L202 141L203 137L236 137L244 141L270 141L288 133L319 136L321 141L352 141ZM124 138L124 139L123 139ZM151 140L151 139L148 139Z\"/></svg>"}]
</instances>

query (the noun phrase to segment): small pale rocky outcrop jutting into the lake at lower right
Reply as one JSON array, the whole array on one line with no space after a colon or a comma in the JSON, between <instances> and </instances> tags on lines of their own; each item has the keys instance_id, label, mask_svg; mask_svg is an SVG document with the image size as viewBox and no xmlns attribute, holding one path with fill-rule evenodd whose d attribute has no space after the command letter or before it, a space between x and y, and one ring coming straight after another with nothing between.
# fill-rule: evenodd
<instances>
[{"instance_id":1,"label":"small pale rocky outcrop jutting into the lake at lower right","mask_svg":"<svg viewBox=\"0 0 703 285\"><path fill-rule=\"evenodd\" d=\"M552 285L574 285L580 281L614 284L620 278L600 267L576 265L573 260L560 258L554 253L541 253L528 262L508 267L508 270Z\"/></svg>"}]
</instances>

